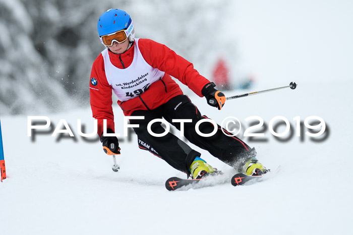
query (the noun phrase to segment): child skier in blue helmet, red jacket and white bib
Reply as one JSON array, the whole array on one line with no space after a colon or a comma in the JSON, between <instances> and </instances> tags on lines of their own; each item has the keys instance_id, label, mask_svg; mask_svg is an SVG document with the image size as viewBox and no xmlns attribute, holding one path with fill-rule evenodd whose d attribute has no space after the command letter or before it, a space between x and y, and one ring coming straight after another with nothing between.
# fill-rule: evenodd
<instances>
[{"instance_id":1,"label":"child skier in blue helmet, red jacket and white bib","mask_svg":"<svg viewBox=\"0 0 353 235\"><path fill-rule=\"evenodd\" d=\"M206 119L170 76L187 85L207 103L221 110L225 97L215 89L215 84L201 76L193 64L174 51L149 39L135 38L133 22L128 13L109 9L97 24L101 43L106 47L95 59L90 79L90 102L93 117L98 120L98 134L107 154L120 154L118 139L104 136L114 133L112 92L125 116L131 116L130 124L138 124L134 131L138 144L166 161L173 168L185 172L193 179L217 173L216 169L201 159L201 153L171 133L156 137L149 133L151 120L164 118L177 129L181 122L173 119L190 119L185 122L185 137L193 144L206 149L222 162L247 175L262 175L268 170L260 164L254 148L241 139L223 134L218 125L217 132L210 137L200 136L195 125ZM144 119L133 119L143 116ZM164 133L160 122L151 125L154 133ZM214 126L204 122L199 126L202 133L211 133Z\"/></svg>"}]
</instances>

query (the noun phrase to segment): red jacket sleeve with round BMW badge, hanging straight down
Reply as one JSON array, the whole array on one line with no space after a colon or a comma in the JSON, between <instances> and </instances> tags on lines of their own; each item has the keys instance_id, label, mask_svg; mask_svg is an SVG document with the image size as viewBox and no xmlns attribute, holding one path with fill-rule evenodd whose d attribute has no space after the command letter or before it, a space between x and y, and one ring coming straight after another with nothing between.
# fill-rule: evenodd
<instances>
[{"instance_id":1,"label":"red jacket sleeve with round BMW badge, hanging straight down","mask_svg":"<svg viewBox=\"0 0 353 235\"><path fill-rule=\"evenodd\" d=\"M92 114L98 120L98 135L103 133L103 119L107 120L107 128L114 131L111 86L106 80L102 54L93 62L89 88Z\"/></svg>"}]
</instances>

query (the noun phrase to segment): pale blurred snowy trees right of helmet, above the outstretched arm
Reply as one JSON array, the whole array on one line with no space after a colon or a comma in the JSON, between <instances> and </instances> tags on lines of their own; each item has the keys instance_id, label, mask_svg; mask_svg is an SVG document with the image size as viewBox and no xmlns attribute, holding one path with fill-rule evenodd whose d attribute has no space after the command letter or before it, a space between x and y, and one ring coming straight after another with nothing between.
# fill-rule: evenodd
<instances>
[{"instance_id":1,"label":"pale blurred snowy trees right of helmet, above the outstretched arm","mask_svg":"<svg viewBox=\"0 0 353 235\"><path fill-rule=\"evenodd\" d=\"M229 1L179 0L135 1L129 10L136 37L163 43L194 63L199 72L211 79L211 67L222 54L232 59L235 44ZM127 10L127 11L128 11Z\"/></svg>"}]
</instances>

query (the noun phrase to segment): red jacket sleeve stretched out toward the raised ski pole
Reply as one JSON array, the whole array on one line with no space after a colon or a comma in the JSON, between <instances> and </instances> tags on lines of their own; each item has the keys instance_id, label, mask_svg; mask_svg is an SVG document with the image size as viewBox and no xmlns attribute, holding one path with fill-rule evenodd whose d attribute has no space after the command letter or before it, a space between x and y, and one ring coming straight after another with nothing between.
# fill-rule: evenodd
<instances>
[{"instance_id":1,"label":"red jacket sleeve stretched out toward the raised ski pole","mask_svg":"<svg viewBox=\"0 0 353 235\"><path fill-rule=\"evenodd\" d=\"M198 96L203 97L201 90L210 81L201 76L192 63L165 45L150 39L140 39L138 44L143 58L149 65L175 77Z\"/></svg>"}]
</instances>

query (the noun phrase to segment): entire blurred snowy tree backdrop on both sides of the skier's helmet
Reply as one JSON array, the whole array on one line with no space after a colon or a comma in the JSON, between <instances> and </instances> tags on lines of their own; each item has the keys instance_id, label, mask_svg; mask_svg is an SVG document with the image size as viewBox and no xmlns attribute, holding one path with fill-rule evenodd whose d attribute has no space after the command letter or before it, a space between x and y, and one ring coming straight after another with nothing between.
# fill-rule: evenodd
<instances>
[{"instance_id":1,"label":"entire blurred snowy tree backdrop on both sides of the skier's helmet","mask_svg":"<svg viewBox=\"0 0 353 235\"><path fill-rule=\"evenodd\" d=\"M232 55L225 0L0 0L0 115L89 106L96 32L109 8L126 10L136 37L166 44L203 75L220 53Z\"/></svg>"}]
</instances>

